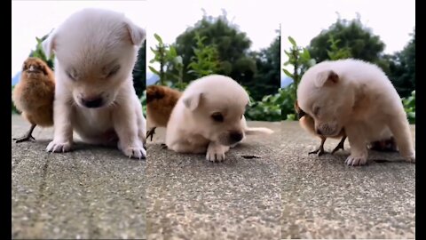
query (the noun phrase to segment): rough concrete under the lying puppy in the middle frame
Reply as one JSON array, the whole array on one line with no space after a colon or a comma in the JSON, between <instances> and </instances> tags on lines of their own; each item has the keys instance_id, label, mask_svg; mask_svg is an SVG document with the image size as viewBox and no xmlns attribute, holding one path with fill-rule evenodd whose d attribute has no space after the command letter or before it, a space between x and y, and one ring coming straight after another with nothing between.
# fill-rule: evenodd
<instances>
[{"instance_id":1,"label":"rough concrete under the lying puppy in the middle frame","mask_svg":"<svg viewBox=\"0 0 426 240\"><path fill-rule=\"evenodd\" d=\"M147 145L148 238L279 239L280 123L266 125L272 135L248 136L224 163L164 149L158 130Z\"/></svg>"}]
</instances>

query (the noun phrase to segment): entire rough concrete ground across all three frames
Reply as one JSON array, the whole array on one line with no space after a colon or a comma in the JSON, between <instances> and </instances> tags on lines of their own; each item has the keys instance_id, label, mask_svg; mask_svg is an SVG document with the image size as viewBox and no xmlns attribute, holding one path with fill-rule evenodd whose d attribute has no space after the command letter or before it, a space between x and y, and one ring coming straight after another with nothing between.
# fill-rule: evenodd
<instances>
[{"instance_id":1,"label":"entire rough concrete ground across all three frames","mask_svg":"<svg viewBox=\"0 0 426 240\"><path fill-rule=\"evenodd\" d=\"M415 164L371 152L349 167L347 151L308 156L319 139L296 122L248 124L275 133L249 136L221 164L163 149L161 129L147 162L81 143L47 154L51 129L36 128L38 141L12 142L12 237L414 238ZM28 128L12 116L13 137Z\"/></svg>"}]
</instances>

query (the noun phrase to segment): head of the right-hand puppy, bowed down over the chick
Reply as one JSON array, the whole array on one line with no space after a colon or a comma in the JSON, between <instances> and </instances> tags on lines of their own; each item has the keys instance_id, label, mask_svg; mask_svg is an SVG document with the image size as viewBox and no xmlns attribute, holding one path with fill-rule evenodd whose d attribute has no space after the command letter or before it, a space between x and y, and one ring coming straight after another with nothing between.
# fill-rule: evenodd
<instances>
[{"instance_id":1,"label":"head of the right-hand puppy, bowed down over the chick","mask_svg":"<svg viewBox=\"0 0 426 240\"><path fill-rule=\"evenodd\" d=\"M298 106L315 122L315 132L336 136L351 116L355 94L329 62L308 69L297 88Z\"/></svg>"}]
</instances>

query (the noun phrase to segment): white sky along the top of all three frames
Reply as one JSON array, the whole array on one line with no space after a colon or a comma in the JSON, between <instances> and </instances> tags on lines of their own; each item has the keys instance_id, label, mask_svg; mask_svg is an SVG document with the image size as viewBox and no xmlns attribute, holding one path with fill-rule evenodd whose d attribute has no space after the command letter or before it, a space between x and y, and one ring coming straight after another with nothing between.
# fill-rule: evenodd
<instances>
[{"instance_id":1,"label":"white sky along the top of all three frames","mask_svg":"<svg viewBox=\"0 0 426 240\"><path fill-rule=\"evenodd\" d=\"M155 44L154 33L165 43L173 43L185 28L201 20L201 8L213 16L225 9L228 20L251 39L252 50L271 44L280 23L282 49L289 47L288 36L305 46L321 29L335 22L335 12L350 20L359 12L361 21L386 44L387 53L402 50L415 26L414 0L12 1L12 76L36 46L36 36L43 36L85 7L124 12L146 28L147 61L153 58L149 46Z\"/></svg>"}]
</instances>

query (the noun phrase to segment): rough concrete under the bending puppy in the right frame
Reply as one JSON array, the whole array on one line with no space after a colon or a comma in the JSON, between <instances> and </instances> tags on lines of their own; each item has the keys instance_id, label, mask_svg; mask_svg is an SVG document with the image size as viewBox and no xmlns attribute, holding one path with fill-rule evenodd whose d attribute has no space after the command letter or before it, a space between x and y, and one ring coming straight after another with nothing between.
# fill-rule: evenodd
<instances>
[{"instance_id":1,"label":"rough concrete under the bending puppy in the right frame","mask_svg":"<svg viewBox=\"0 0 426 240\"><path fill-rule=\"evenodd\" d=\"M308 156L319 139L296 122L281 134L282 238L414 238L415 164L370 151L366 166L350 167L347 141L335 156Z\"/></svg>"}]
</instances>

